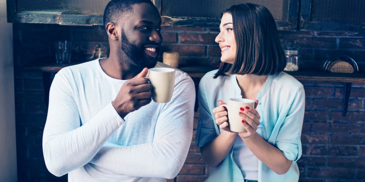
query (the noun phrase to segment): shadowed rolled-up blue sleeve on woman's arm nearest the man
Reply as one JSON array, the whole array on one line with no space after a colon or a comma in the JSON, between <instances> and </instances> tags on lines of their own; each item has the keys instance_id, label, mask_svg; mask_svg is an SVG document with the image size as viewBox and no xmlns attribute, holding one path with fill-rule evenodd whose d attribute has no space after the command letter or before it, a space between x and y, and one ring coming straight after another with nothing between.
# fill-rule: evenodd
<instances>
[{"instance_id":1,"label":"shadowed rolled-up blue sleeve on woman's arm nearest the man","mask_svg":"<svg viewBox=\"0 0 365 182\"><path fill-rule=\"evenodd\" d=\"M199 121L195 136L195 143L198 147L203 147L208 142L217 137L215 130L215 121L208 107L207 98L205 97L205 79L201 79L198 90L199 101Z\"/></svg>"}]
</instances>

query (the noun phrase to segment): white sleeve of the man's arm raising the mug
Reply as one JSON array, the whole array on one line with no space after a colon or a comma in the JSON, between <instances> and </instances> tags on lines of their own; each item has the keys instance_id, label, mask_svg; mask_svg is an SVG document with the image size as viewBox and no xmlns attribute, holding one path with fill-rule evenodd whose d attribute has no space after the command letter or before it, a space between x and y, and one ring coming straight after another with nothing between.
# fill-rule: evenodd
<instances>
[{"instance_id":1,"label":"white sleeve of the man's arm raising the mug","mask_svg":"<svg viewBox=\"0 0 365 182\"><path fill-rule=\"evenodd\" d=\"M73 81L66 75L72 73L62 69L52 82L42 141L47 169L56 176L87 164L124 122L110 103L80 127Z\"/></svg>"}]
</instances>

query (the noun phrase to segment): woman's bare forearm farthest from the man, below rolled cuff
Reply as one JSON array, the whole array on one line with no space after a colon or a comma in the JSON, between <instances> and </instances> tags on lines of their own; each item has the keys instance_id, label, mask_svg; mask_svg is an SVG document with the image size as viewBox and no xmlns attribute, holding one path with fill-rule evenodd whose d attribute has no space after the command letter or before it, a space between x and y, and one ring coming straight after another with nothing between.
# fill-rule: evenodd
<instances>
[{"instance_id":1,"label":"woman's bare forearm farthest from the man, below rolled cuff","mask_svg":"<svg viewBox=\"0 0 365 182\"><path fill-rule=\"evenodd\" d=\"M249 138L242 138L242 140L251 152L275 173L285 174L288 172L292 160L288 160L283 152L266 142L260 135L255 133Z\"/></svg>"}]
</instances>

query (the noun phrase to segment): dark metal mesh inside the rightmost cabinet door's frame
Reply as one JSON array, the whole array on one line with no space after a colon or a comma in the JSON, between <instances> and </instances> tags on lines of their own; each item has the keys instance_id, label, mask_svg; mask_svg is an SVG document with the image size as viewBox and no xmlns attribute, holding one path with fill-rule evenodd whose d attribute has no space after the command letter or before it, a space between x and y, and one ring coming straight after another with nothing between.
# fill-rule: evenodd
<instances>
[{"instance_id":1,"label":"dark metal mesh inside the rightmost cabinet door's frame","mask_svg":"<svg viewBox=\"0 0 365 182\"><path fill-rule=\"evenodd\" d=\"M365 23L364 0L312 0L311 22Z\"/></svg>"}]
</instances>

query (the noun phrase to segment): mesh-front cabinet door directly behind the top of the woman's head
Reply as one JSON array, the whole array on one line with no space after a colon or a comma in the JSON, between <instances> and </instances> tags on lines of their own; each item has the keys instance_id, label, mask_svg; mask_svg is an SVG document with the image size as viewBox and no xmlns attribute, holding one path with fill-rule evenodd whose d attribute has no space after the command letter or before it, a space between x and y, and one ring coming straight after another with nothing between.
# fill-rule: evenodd
<instances>
[{"instance_id":1,"label":"mesh-front cabinet door directly behind the top of the woman's head","mask_svg":"<svg viewBox=\"0 0 365 182\"><path fill-rule=\"evenodd\" d=\"M154 0L165 26L218 28L222 12L234 4L264 5L278 30L297 30L298 0Z\"/></svg>"}]
</instances>

